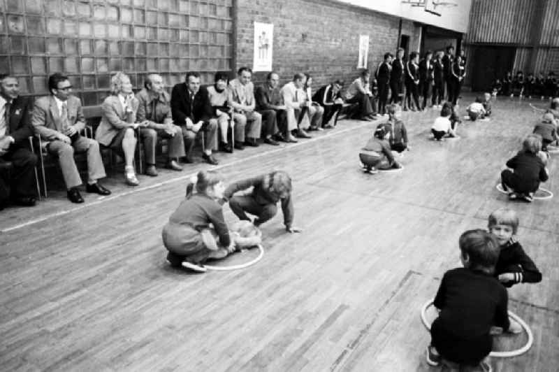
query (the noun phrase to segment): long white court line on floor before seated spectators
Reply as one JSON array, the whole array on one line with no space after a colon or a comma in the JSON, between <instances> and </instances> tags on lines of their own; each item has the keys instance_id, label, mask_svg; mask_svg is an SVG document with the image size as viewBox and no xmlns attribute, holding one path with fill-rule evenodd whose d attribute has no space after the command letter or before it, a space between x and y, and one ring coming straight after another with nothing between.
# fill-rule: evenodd
<instances>
[{"instance_id":1,"label":"long white court line on floor before seated spectators","mask_svg":"<svg viewBox=\"0 0 559 372\"><path fill-rule=\"evenodd\" d=\"M340 135L340 134L347 133L348 131L353 131L355 129L361 129L363 127L368 127L370 125L378 125L380 122L383 122L383 121L384 121L384 118L382 118L380 120L376 120L374 122L363 122L363 123L360 123L360 124L352 125L349 128L341 129L341 130L338 130L338 131L328 131L326 134L323 134L321 136L307 138L307 139L305 139L305 141L299 141L298 143L293 143L292 145L289 145L289 148L302 146L302 145L305 145L307 143L314 143L316 141L321 141L324 138L330 138L330 137L333 137L333 136L337 136L337 135ZM266 156L266 155L274 154L275 152L280 152L280 151L283 151L284 149L286 149L286 147L284 147L284 146L282 146L280 148L273 148L273 149L267 150L265 152L260 152L260 153L257 153L257 154L249 155L247 157L243 157L242 159L233 160L232 162L228 162L228 163L225 163L225 164L219 164L217 166L212 166L212 167L209 168L209 170L213 171L213 170L218 170L218 169L224 169L228 166L233 166L235 164L239 164L240 162L247 162L247 161L255 159L257 157L263 157L263 156ZM50 220L51 218L60 217L62 215L67 215L68 213L77 212L78 210L89 208L91 206L97 206L101 203L104 203L106 201L115 200L115 199L120 198L122 196L128 196L128 195L131 195L131 194L135 194L137 192L146 191L148 189L154 189L155 187L161 187L163 185L168 185L170 183L175 183L175 182L179 182L179 181L182 181L182 180L187 180L188 178L191 178L192 176L195 176L197 173L198 173L198 171L196 171L195 173L189 173L189 174L186 174L184 176L177 177L177 178L172 178L170 180L166 180L166 181L163 181L161 183L156 183L154 185L144 186L144 187L136 187L136 188L131 189L131 190L126 191L126 192L122 192L122 193L115 194L115 195L112 195L112 196L103 197L103 199L97 199L96 201L92 201L91 203L83 204L82 206L76 206L76 207L68 208L68 209L65 209L65 210L59 210L58 212L50 213L49 215L44 215L43 217L39 217L39 218L36 218L34 220L29 220L29 221L23 222L21 224L15 224L13 226L6 227L5 229L1 229L0 234L5 234L5 233L10 232L10 231L14 231L14 230L17 230L17 229L22 229L23 227L27 227L27 226L30 226L32 224L37 224L39 222Z\"/></svg>"}]
</instances>

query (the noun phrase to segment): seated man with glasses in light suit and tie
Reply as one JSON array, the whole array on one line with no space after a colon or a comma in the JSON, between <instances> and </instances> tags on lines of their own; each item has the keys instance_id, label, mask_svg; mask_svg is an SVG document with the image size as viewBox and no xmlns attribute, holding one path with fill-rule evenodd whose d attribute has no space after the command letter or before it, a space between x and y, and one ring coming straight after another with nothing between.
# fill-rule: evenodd
<instances>
[{"instance_id":1,"label":"seated man with glasses in light suit and tie","mask_svg":"<svg viewBox=\"0 0 559 372\"><path fill-rule=\"evenodd\" d=\"M78 190L82 184L80 172L75 166L74 152L87 152L87 186L85 191L108 195L110 191L97 180L106 176L99 143L84 137L80 131L85 128L82 102L71 96L70 80L61 73L48 78L50 96L43 96L35 101L32 123L36 133L46 142L50 155L58 158L64 183L68 189L68 199L72 203L83 203Z\"/></svg>"}]
</instances>

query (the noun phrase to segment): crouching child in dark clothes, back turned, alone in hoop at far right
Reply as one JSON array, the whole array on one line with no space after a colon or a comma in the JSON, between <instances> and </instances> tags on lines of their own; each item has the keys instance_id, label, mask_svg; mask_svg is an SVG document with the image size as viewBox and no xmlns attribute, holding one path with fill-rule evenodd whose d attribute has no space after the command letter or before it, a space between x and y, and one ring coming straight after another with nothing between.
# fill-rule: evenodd
<instances>
[{"instance_id":1,"label":"crouching child in dark clothes, back turned, alone in hoop at far right","mask_svg":"<svg viewBox=\"0 0 559 372\"><path fill-rule=\"evenodd\" d=\"M542 136L528 134L522 143L522 150L509 159L507 167L501 172L501 185L509 199L532 201L539 183L549 178L547 157L542 150Z\"/></svg>"}]
</instances>

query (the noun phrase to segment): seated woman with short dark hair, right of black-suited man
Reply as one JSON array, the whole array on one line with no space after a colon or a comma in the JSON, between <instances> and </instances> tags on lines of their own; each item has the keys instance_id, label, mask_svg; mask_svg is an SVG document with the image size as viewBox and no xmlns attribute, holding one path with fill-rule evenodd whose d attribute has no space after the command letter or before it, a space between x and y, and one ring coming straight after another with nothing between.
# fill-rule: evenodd
<instances>
[{"instance_id":1,"label":"seated woman with short dark hair, right of black-suited man","mask_svg":"<svg viewBox=\"0 0 559 372\"><path fill-rule=\"evenodd\" d=\"M208 96L210 96L210 105L212 105L213 117L211 120L217 122L217 127L221 133L221 141L219 142L219 150L225 152L233 152L233 147L237 150L244 150L245 146L245 124L244 120L233 120L233 134L235 143L229 143L227 134L229 129L229 122L231 122L231 105L228 102L229 92L227 85L229 77L227 73L218 72L214 77L214 85L208 87Z\"/></svg>"}]
</instances>

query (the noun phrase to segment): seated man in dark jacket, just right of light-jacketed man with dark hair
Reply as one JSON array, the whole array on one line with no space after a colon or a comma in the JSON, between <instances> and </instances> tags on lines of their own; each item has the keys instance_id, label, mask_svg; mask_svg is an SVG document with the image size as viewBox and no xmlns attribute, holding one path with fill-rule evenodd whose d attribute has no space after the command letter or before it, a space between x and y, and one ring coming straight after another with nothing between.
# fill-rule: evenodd
<instances>
[{"instance_id":1,"label":"seated man in dark jacket, just right of light-jacketed man with dark hair","mask_svg":"<svg viewBox=\"0 0 559 372\"><path fill-rule=\"evenodd\" d=\"M279 92L279 75L268 73L266 83L256 87L256 111L262 115L265 130L264 143L279 145L277 141L293 142L287 132L287 118L282 94ZM277 141L275 141L277 140Z\"/></svg>"}]
</instances>

